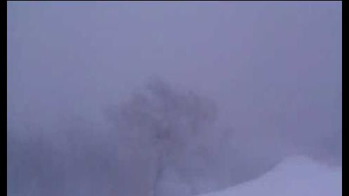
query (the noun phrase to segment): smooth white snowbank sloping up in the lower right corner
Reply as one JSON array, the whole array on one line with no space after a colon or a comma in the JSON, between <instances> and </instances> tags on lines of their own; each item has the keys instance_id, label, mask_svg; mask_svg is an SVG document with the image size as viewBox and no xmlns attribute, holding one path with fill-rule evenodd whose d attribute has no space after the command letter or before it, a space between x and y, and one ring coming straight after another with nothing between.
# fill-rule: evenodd
<instances>
[{"instance_id":1,"label":"smooth white snowbank sloping up in the lower right corner","mask_svg":"<svg viewBox=\"0 0 349 196\"><path fill-rule=\"evenodd\" d=\"M200 196L339 196L342 169L310 158L286 158L272 171L253 181Z\"/></svg>"}]
</instances>

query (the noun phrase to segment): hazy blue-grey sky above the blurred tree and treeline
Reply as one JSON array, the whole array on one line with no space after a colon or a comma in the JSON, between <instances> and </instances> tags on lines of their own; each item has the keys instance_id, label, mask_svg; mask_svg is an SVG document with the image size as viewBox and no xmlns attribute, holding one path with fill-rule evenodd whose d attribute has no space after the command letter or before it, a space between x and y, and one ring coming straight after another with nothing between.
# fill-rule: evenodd
<instances>
[{"instance_id":1,"label":"hazy blue-grey sky above the blurred tree and treeline","mask_svg":"<svg viewBox=\"0 0 349 196\"><path fill-rule=\"evenodd\" d=\"M313 141L341 131L341 15L341 1L8 2L8 126L103 122L158 75L242 134Z\"/></svg>"}]
</instances>

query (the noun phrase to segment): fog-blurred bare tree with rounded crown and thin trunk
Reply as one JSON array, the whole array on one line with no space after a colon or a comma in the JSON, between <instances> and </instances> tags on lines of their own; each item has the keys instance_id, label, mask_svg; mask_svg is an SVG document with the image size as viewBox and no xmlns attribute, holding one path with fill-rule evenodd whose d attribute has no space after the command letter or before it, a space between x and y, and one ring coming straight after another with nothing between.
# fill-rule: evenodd
<instances>
[{"instance_id":1,"label":"fog-blurred bare tree with rounded crown and thin trunk","mask_svg":"<svg viewBox=\"0 0 349 196\"><path fill-rule=\"evenodd\" d=\"M109 110L117 132L118 156L144 157L154 163L151 193L165 167L188 149L200 131L214 122L216 106L193 92L180 93L159 79Z\"/></svg>"}]
</instances>

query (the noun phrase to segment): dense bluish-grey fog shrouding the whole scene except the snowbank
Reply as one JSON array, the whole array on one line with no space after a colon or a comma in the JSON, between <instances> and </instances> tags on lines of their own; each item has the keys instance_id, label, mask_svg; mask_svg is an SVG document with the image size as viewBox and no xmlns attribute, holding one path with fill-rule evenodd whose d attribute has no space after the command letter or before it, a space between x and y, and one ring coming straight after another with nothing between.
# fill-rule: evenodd
<instances>
[{"instance_id":1,"label":"dense bluish-grey fog shrouding the whole scene except the snowbank","mask_svg":"<svg viewBox=\"0 0 349 196\"><path fill-rule=\"evenodd\" d=\"M195 195L294 154L341 165L341 1L8 1L7 9L8 195ZM154 98L138 101L151 84ZM152 105L161 101L165 113ZM132 113L140 108L149 113ZM137 146L154 142L151 115L179 126L171 131L184 142L166 143L179 152L161 162L172 169L160 179L157 149ZM152 124L126 142L138 117ZM195 119L188 133L197 135L186 136L177 117ZM195 146L205 155L196 158ZM173 190L161 185L168 181Z\"/></svg>"}]
</instances>

